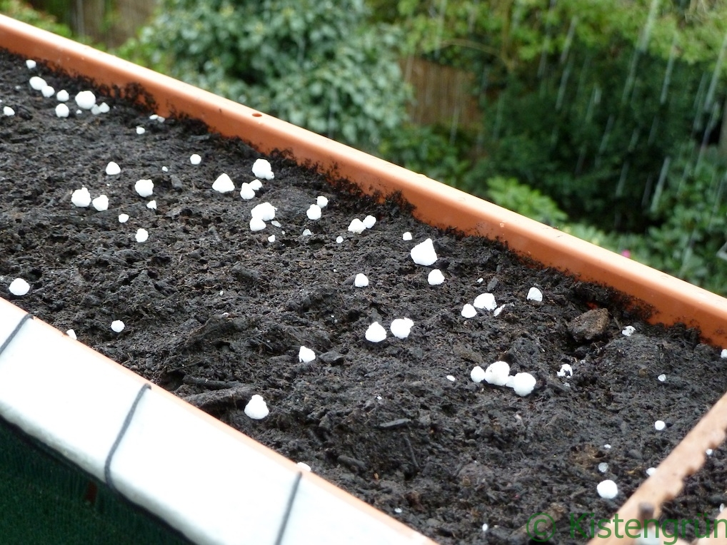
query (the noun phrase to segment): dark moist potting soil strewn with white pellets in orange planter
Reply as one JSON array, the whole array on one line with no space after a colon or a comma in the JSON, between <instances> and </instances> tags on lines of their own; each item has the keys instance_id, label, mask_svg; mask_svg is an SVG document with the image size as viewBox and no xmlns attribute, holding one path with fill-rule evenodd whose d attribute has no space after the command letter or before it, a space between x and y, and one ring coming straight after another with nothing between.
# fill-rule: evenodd
<instances>
[{"instance_id":1,"label":"dark moist potting soil strewn with white pellets in orange planter","mask_svg":"<svg viewBox=\"0 0 727 545\"><path fill-rule=\"evenodd\" d=\"M558 520L553 542L585 541L571 536L571 514L610 517L727 389L718 348L696 331L648 326L607 288L422 225L400 203L341 191L281 156L270 158L275 179L244 201L239 187L260 154L243 142L196 121L150 120L108 89L99 102L109 113L69 102L71 117L57 118L57 100L28 79L71 97L87 82L7 53L0 70L1 105L15 110L0 118L3 296L442 544L525 542L538 512ZM121 174L105 174L109 161ZM223 172L234 193L212 190ZM134 192L138 179L153 179L153 197ZM108 211L74 207L81 186L108 195ZM318 195L329 206L314 222L305 212ZM265 201L280 227L252 233L250 210ZM366 214L376 225L348 233ZM134 240L140 227L145 243ZM441 286L409 256L426 238ZM368 287L353 286L356 273ZM16 277L31 283L27 295L9 294ZM542 302L526 299L532 286ZM502 313L463 318L462 305L486 291ZM409 338L364 338L374 321L403 317L414 320ZM120 334L113 320L126 324ZM624 336L629 325L636 332ZM316 360L299 362L302 345ZM534 392L470 380L496 360L533 374ZM564 363L570 378L556 376ZM267 418L244 414L251 393L265 398ZM707 468L665 516L717 513L721 450ZM614 500L596 492L605 479L619 486Z\"/></svg>"}]
</instances>

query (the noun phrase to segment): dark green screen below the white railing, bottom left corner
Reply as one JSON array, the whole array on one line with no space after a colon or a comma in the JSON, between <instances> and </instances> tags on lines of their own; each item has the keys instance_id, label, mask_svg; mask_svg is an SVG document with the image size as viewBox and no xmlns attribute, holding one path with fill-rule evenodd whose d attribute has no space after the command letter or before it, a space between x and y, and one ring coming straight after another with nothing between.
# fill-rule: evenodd
<instances>
[{"instance_id":1,"label":"dark green screen below the white railing, bottom left corner","mask_svg":"<svg viewBox=\"0 0 727 545\"><path fill-rule=\"evenodd\" d=\"M0 544L190 544L0 419Z\"/></svg>"}]
</instances>

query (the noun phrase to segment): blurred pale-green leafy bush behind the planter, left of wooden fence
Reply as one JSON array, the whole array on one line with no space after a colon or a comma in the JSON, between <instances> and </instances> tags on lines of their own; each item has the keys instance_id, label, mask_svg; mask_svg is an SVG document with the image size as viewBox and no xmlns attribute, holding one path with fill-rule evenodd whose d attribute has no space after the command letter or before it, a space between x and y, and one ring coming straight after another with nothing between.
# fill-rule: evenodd
<instances>
[{"instance_id":1,"label":"blurred pale-green leafy bush behind the planter, left of wooden fence","mask_svg":"<svg viewBox=\"0 0 727 545\"><path fill-rule=\"evenodd\" d=\"M398 33L363 0L163 0L121 55L252 108L375 149L406 118Z\"/></svg>"}]
</instances>

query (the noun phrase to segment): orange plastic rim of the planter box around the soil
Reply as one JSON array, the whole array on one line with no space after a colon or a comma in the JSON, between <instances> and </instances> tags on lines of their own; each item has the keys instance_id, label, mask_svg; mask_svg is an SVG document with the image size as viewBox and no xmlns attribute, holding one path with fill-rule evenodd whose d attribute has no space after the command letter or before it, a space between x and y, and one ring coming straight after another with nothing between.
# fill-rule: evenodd
<instances>
[{"instance_id":1,"label":"orange plastic rim of the planter box around the soil","mask_svg":"<svg viewBox=\"0 0 727 545\"><path fill-rule=\"evenodd\" d=\"M99 85L124 89L130 84L140 84L156 100L156 113L162 116L199 118L211 130L239 137L261 153L282 150L298 163L355 182L367 194L398 193L415 207L414 216L423 222L503 241L510 249L543 265L622 291L634 299L634 304L651 308L650 319L655 323L685 323L699 328L704 341L727 344L727 299L683 280L244 105L1 15L0 46L85 76ZM176 403L185 404L169 396ZM659 466L654 475L657 478L646 480L619 509L619 514L622 517L631 514L644 498L653 500L658 509L664 499L675 496L681 489L676 481L681 483L683 477L703 464L703 449L723 440L726 415L727 396L699 421ZM207 418L212 425L241 435L212 417ZM256 448L264 447L257 445ZM279 456L270 452L271 456ZM660 473L662 469L664 472ZM326 485L345 501L358 502L333 485ZM377 516L390 520L363 502L358 503L361 508L371 509Z\"/></svg>"}]
</instances>

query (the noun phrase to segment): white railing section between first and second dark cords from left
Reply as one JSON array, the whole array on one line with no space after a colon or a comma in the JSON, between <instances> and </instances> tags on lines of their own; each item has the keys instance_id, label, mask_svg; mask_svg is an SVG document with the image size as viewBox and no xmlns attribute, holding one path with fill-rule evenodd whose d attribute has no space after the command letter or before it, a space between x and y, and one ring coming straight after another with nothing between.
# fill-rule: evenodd
<instances>
[{"instance_id":1,"label":"white railing section between first and second dark cords from left","mask_svg":"<svg viewBox=\"0 0 727 545\"><path fill-rule=\"evenodd\" d=\"M41 321L28 320L0 354L0 415L103 479L108 451L142 382L99 365L98 358Z\"/></svg>"}]
</instances>

